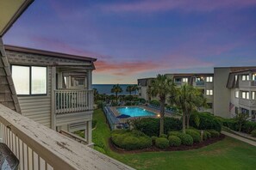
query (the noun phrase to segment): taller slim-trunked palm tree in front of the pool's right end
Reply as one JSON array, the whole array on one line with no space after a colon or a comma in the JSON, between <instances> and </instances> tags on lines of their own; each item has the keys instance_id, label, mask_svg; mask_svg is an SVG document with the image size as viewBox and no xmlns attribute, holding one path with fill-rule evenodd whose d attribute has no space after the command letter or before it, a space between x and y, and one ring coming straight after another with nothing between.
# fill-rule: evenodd
<instances>
[{"instance_id":1,"label":"taller slim-trunked palm tree in front of the pool's right end","mask_svg":"<svg viewBox=\"0 0 256 170\"><path fill-rule=\"evenodd\" d=\"M153 97L158 97L160 102L160 127L159 135L164 133L164 117L165 117L165 100L167 95L174 95L176 93L175 84L172 79L165 75L158 75L151 82L151 88L148 94Z\"/></svg>"}]
</instances>

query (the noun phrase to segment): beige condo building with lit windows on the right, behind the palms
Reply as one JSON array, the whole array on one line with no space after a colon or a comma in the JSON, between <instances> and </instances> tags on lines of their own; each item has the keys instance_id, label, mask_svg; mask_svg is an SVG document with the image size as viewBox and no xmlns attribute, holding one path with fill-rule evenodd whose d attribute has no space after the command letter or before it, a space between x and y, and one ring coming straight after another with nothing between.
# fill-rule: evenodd
<instances>
[{"instance_id":1,"label":"beige condo building with lit windows on the right, behind the palms","mask_svg":"<svg viewBox=\"0 0 256 170\"><path fill-rule=\"evenodd\" d=\"M166 74L179 88L184 84L198 88L207 99L207 108L199 112L211 112L223 118L232 118L238 112L256 117L256 67L216 67L214 73ZM147 89L153 78L138 79L139 95L151 100Z\"/></svg>"}]
</instances>

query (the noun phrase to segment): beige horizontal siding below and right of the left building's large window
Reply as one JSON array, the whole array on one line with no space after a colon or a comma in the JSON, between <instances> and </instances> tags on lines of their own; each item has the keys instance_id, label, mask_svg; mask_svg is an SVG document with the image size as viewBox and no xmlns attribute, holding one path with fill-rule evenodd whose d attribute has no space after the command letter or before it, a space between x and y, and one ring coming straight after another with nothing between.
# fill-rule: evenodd
<instances>
[{"instance_id":1,"label":"beige horizontal siding below and right of the left building's large window","mask_svg":"<svg viewBox=\"0 0 256 170\"><path fill-rule=\"evenodd\" d=\"M51 67L47 67L47 95L18 96L22 115L34 121L51 126Z\"/></svg>"}]
</instances>

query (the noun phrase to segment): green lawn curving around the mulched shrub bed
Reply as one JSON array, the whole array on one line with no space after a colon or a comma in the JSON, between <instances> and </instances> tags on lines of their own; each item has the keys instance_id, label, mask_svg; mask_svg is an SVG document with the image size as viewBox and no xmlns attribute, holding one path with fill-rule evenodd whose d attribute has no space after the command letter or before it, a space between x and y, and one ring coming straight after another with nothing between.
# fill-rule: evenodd
<instances>
[{"instance_id":1,"label":"green lawn curving around the mulched shrub bed","mask_svg":"<svg viewBox=\"0 0 256 170\"><path fill-rule=\"evenodd\" d=\"M256 147L230 137L189 151L117 154L108 147L110 131L103 112L96 110L93 117L97 119L93 142L101 145L106 155L136 169L256 169Z\"/></svg>"}]
</instances>

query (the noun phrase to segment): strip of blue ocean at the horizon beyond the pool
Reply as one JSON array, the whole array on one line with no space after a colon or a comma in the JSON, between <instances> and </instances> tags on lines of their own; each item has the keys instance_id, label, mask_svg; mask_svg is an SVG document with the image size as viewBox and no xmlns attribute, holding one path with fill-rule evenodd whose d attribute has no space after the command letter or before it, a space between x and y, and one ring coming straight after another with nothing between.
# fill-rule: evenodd
<instances>
[{"instance_id":1,"label":"strip of blue ocean at the horizon beyond the pool","mask_svg":"<svg viewBox=\"0 0 256 170\"><path fill-rule=\"evenodd\" d=\"M111 95L111 88L116 84L92 84L92 88L97 88L97 91L99 94L108 94ZM118 95L128 95L129 93L126 91L126 88L128 85L134 85L134 84L119 84L119 86L122 88L122 93L119 93ZM138 94L138 92L132 92L132 94Z\"/></svg>"}]
</instances>

